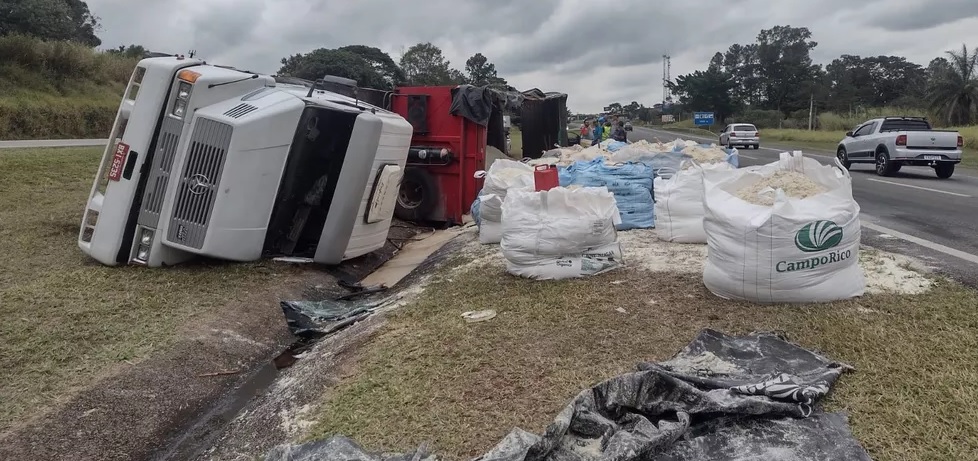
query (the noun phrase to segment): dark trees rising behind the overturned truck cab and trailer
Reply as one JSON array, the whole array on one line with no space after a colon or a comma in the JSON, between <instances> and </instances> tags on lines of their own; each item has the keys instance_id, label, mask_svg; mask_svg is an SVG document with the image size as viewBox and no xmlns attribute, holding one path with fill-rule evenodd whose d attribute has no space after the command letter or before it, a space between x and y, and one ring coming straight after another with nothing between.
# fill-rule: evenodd
<instances>
[{"instance_id":1,"label":"dark trees rising behind the overturned truck cab and trailer","mask_svg":"<svg viewBox=\"0 0 978 461\"><path fill-rule=\"evenodd\" d=\"M430 42L408 48L395 62L379 48L348 45L339 48L319 48L305 54L282 58L278 75L315 80L336 75L356 80L362 87L391 89L398 85L459 85L471 84L508 88L496 66L482 53L465 61L464 70L452 67L441 49Z\"/></svg>"}]
</instances>

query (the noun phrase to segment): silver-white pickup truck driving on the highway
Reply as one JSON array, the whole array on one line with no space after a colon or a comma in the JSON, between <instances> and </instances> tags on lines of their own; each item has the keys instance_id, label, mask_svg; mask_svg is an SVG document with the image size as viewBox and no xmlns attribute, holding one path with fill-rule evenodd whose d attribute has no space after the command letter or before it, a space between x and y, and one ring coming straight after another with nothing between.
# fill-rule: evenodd
<instances>
[{"instance_id":1,"label":"silver-white pickup truck driving on the highway","mask_svg":"<svg viewBox=\"0 0 978 461\"><path fill-rule=\"evenodd\" d=\"M941 179L954 174L964 145L957 131L933 130L923 117L883 117L846 133L836 155L849 168L873 163L876 174L890 176L904 165L929 166Z\"/></svg>"}]
</instances>

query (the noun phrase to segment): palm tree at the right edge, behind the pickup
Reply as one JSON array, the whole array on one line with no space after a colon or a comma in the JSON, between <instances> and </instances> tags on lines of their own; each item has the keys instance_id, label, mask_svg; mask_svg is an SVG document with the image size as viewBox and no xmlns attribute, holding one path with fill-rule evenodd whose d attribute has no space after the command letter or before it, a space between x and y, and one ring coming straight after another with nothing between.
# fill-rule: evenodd
<instances>
[{"instance_id":1,"label":"palm tree at the right edge, behind the pickup","mask_svg":"<svg viewBox=\"0 0 978 461\"><path fill-rule=\"evenodd\" d=\"M961 52L948 51L946 66L934 75L928 100L931 110L948 125L970 125L978 113L978 80L975 67L978 52L968 52L961 45Z\"/></svg>"}]
</instances>

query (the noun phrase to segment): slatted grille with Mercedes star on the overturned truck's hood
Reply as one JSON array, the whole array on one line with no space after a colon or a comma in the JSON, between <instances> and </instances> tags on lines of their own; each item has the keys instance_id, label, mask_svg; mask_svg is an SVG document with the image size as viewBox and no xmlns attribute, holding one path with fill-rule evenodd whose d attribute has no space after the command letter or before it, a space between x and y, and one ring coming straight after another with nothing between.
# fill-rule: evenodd
<instances>
[{"instance_id":1,"label":"slatted grille with Mercedes star on the overturned truck's hood","mask_svg":"<svg viewBox=\"0 0 978 461\"><path fill-rule=\"evenodd\" d=\"M190 248L203 247L232 132L230 125L197 120L177 185L167 240Z\"/></svg>"}]
</instances>

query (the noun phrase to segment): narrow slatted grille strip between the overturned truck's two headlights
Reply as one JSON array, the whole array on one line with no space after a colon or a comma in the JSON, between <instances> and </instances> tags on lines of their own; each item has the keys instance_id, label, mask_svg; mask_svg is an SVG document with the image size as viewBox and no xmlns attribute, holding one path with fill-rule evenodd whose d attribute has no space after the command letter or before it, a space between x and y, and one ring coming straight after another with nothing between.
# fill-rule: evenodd
<instances>
[{"instance_id":1,"label":"narrow slatted grille strip between the overturned truck's two headlights","mask_svg":"<svg viewBox=\"0 0 978 461\"><path fill-rule=\"evenodd\" d=\"M143 227L153 229L159 227L163 198L166 196L166 186L170 182L170 170L173 169L173 160L177 155L182 130L182 120L172 117L163 120L160 136L156 141L153 165L146 179L142 208L139 210L139 225Z\"/></svg>"}]
</instances>

